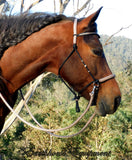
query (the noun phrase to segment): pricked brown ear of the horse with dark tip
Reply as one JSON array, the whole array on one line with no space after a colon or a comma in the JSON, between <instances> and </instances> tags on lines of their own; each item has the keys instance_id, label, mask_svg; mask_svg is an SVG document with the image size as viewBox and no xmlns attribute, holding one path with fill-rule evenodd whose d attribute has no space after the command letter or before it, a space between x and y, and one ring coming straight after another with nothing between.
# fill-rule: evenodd
<instances>
[{"instance_id":1,"label":"pricked brown ear of the horse with dark tip","mask_svg":"<svg viewBox=\"0 0 132 160\"><path fill-rule=\"evenodd\" d=\"M80 22L80 28L81 29L85 29L87 28L89 25L95 23L96 19L98 18L99 16L99 13L101 11L103 7L99 8L95 13L91 14L90 16L88 16L87 18L83 19L81 22Z\"/></svg>"}]
</instances>

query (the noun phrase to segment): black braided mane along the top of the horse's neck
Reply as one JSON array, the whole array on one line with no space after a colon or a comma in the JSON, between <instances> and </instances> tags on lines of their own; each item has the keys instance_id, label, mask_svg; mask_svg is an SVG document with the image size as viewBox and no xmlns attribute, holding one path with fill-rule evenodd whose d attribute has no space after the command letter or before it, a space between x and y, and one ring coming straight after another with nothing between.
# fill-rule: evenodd
<instances>
[{"instance_id":1,"label":"black braided mane along the top of the horse's neck","mask_svg":"<svg viewBox=\"0 0 132 160\"><path fill-rule=\"evenodd\" d=\"M33 13L0 17L0 58L9 47L22 42L47 25L67 19L64 15Z\"/></svg>"}]
</instances>

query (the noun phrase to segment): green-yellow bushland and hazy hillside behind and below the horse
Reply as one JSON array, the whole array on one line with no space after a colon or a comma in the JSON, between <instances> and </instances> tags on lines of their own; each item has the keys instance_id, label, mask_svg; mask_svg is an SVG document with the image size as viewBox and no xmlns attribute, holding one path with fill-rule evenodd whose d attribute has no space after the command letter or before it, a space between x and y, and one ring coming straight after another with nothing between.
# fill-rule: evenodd
<instances>
[{"instance_id":1,"label":"green-yellow bushland and hazy hillside behind and below the horse","mask_svg":"<svg viewBox=\"0 0 132 160\"><path fill-rule=\"evenodd\" d=\"M108 36L102 36L102 43L107 39ZM122 91L122 102L117 112L105 118L97 116L85 132L70 139L52 137L16 121L0 136L0 159L132 159L132 40L115 37L112 42L104 46L104 51ZM25 86L23 91L27 88ZM39 85L28 105L45 128L60 128L71 124L83 112L87 101L82 98L79 103L81 112L76 113L72 94L55 75L50 75ZM93 110L91 107L76 127L58 134L77 132ZM21 116L34 123L25 109Z\"/></svg>"}]
</instances>

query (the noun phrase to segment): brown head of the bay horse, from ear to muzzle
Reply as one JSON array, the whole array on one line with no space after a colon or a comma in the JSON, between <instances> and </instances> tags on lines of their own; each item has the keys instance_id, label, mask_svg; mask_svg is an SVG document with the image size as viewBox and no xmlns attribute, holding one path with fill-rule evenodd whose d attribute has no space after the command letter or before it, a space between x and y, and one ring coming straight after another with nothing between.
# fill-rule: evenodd
<instances>
[{"instance_id":1,"label":"brown head of the bay horse, from ear to muzzle","mask_svg":"<svg viewBox=\"0 0 132 160\"><path fill-rule=\"evenodd\" d=\"M79 56L76 52L72 56L70 55L70 58L61 67L60 72L62 77L77 92L81 93L81 96L88 100L89 93L93 88L93 83L91 82L112 74L106 61L102 44L99 41L100 37L97 34L95 21L100 11L101 8L89 17L78 22L76 45ZM66 41L70 42L72 38L67 38ZM121 101L118 84L115 78L112 77L112 79L99 85L98 93L93 101L93 104L96 105L96 113L101 116L112 114L117 110Z\"/></svg>"}]
</instances>

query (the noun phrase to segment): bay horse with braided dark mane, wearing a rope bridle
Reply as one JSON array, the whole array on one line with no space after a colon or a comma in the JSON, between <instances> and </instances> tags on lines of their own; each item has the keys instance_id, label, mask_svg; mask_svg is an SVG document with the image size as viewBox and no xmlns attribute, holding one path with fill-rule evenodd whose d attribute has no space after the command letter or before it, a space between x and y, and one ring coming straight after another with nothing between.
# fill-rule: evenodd
<instances>
[{"instance_id":1,"label":"bay horse with braided dark mane, wearing a rope bridle","mask_svg":"<svg viewBox=\"0 0 132 160\"><path fill-rule=\"evenodd\" d=\"M101 8L87 18L78 19L74 35L74 18L64 15L32 13L0 17L0 93L11 107L18 90L44 72L60 75L89 100L93 83L99 84L98 79L112 74L97 34L95 21L100 11ZM99 84L93 104L98 115L106 116L117 110L120 101L121 92L113 76ZM0 131L8 114L0 99Z\"/></svg>"}]
</instances>

